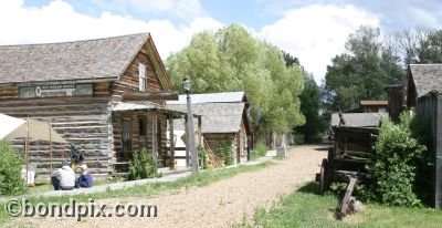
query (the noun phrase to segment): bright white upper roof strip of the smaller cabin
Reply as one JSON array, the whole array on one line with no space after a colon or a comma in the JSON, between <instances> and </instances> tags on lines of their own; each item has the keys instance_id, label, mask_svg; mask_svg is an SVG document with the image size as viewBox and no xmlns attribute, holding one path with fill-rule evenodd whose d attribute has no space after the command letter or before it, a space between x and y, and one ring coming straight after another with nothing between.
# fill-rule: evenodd
<instances>
[{"instance_id":1,"label":"bright white upper roof strip of the smaller cabin","mask_svg":"<svg viewBox=\"0 0 442 228\"><path fill-rule=\"evenodd\" d=\"M192 104L243 102L244 92L191 94ZM179 95L178 101L167 101L166 104L187 104L187 95Z\"/></svg>"}]
</instances>

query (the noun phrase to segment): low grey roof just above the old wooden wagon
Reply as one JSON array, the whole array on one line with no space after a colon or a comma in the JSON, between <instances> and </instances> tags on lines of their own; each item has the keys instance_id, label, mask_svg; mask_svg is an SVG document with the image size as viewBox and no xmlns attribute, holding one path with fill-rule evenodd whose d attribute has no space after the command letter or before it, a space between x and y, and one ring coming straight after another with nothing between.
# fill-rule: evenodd
<instances>
[{"instance_id":1,"label":"low grey roof just above the old wooden wagon","mask_svg":"<svg viewBox=\"0 0 442 228\"><path fill-rule=\"evenodd\" d=\"M388 113L343 113L345 126L379 126L380 120ZM339 125L339 114L332 114L332 126Z\"/></svg>"}]
</instances>

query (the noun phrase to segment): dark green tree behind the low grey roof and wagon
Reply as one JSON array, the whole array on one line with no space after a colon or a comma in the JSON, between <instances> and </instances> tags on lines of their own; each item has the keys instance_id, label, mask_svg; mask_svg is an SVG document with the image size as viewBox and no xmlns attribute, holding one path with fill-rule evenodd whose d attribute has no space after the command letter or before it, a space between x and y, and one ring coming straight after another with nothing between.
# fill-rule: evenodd
<instances>
[{"instance_id":1,"label":"dark green tree behind the low grey roof and wagon","mask_svg":"<svg viewBox=\"0 0 442 228\"><path fill-rule=\"evenodd\" d=\"M399 56L380 41L379 29L360 27L345 48L327 66L324 101L329 111L349 110L361 99L386 99L383 87L404 76Z\"/></svg>"}]
</instances>

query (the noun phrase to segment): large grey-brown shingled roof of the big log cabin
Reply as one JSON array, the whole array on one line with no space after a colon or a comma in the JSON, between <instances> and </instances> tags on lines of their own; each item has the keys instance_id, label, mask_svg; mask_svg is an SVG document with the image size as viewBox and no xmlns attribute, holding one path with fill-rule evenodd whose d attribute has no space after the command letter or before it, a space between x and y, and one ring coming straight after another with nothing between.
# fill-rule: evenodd
<instances>
[{"instance_id":1,"label":"large grey-brown shingled roof of the big log cabin","mask_svg":"<svg viewBox=\"0 0 442 228\"><path fill-rule=\"evenodd\" d=\"M149 38L139 33L0 46L0 83L118 77Z\"/></svg>"}]
</instances>

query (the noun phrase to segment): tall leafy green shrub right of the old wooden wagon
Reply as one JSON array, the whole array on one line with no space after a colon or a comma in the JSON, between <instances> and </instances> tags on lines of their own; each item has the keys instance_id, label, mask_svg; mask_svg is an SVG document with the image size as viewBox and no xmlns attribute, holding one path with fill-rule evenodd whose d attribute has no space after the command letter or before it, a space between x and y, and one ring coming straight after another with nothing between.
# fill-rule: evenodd
<instances>
[{"instance_id":1,"label":"tall leafy green shrub right of the old wooden wagon","mask_svg":"<svg viewBox=\"0 0 442 228\"><path fill-rule=\"evenodd\" d=\"M413 187L415 160L421 158L425 147L412 137L411 121L410 113L403 113L397 125L389 120L382 122L375 145L376 156L367 166L369 199L394 206L419 205Z\"/></svg>"}]
</instances>

